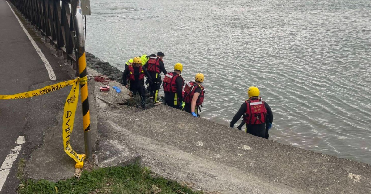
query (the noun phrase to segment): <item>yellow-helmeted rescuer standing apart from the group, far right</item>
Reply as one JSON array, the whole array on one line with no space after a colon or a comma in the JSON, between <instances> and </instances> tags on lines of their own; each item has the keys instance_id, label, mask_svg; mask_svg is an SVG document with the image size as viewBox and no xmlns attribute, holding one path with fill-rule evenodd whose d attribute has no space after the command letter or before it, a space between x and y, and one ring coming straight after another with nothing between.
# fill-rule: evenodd
<instances>
[{"instance_id":1,"label":"yellow-helmeted rescuer standing apart from the group, far right","mask_svg":"<svg viewBox=\"0 0 371 194\"><path fill-rule=\"evenodd\" d=\"M259 89L250 87L247 90L249 99L242 103L240 109L234 115L230 122L230 127L243 116L243 122L246 124L246 132L258 137L266 136L266 121L268 120L268 129L272 127L273 113L269 105L259 97Z\"/></svg>"}]
</instances>

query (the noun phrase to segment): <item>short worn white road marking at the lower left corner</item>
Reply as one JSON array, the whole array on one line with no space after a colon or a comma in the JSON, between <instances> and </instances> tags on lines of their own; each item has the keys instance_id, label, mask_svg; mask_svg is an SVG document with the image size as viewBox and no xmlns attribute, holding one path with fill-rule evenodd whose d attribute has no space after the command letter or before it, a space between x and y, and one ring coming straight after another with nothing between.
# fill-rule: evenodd
<instances>
[{"instance_id":1,"label":"short worn white road marking at the lower left corner","mask_svg":"<svg viewBox=\"0 0 371 194\"><path fill-rule=\"evenodd\" d=\"M7 155L3 164L0 167L0 192L1 188L3 188L4 186L6 178L9 175L10 169L12 168L14 161L16 161L18 154L21 151L22 144L24 144L24 142L26 142L24 141L24 136L19 136L16 141L16 144L18 146L10 150L10 153Z\"/></svg>"}]
</instances>

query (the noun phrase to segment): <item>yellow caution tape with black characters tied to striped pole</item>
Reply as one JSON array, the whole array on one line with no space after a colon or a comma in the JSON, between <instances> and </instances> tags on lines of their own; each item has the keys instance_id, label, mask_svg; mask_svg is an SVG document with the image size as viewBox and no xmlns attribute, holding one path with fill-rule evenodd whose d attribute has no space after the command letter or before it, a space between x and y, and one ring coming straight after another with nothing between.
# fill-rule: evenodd
<instances>
[{"instance_id":1,"label":"yellow caution tape with black characters tied to striped pole","mask_svg":"<svg viewBox=\"0 0 371 194\"><path fill-rule=\"evenodd\" d=\"M86 82L86 80L83 80ZM0 100L11 100L11 99L22 99L22 98L30 98L34 96L40 96L46 93L54 92L59 89L62 89L66 86L72 85L71 91L67 96L64 112L63 112L63 148L69 157L75 160L76 165L75 168L82 168L84 165L85 154L77 154L73 151L70 145L70 137L72 134L73 129L73 122L75 120L75 113L77 108L77 103L79 99L79 86L78 83L80 82L79 78L74 80L68 80L64 82L59 82L53 85L45 86L41 89L36 89L29 92L17 93L13 95L0 95Z\"/></svg>"}]
</instances>

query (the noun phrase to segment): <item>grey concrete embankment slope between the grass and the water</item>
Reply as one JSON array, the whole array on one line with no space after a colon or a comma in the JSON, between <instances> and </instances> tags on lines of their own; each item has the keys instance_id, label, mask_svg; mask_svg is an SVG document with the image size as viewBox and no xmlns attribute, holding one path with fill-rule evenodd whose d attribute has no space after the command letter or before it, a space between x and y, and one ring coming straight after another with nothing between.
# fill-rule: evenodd
<instances>
[{"instance_id":1,"label":"grey concrete embankment slope between the grass and the water","mask_svg":"<svg viewBox=\"0 0 371 194\"><path fill-rule=\"evenodd\" d=\"M128 157L139 153L156 173L196 188L223 193L371 193L368 164L258 138L165 105L139 112L99 109L98 123L100 133L108 137L105 142L111 135L126 147L121 149Z\"/></svg>"}]
</instances>

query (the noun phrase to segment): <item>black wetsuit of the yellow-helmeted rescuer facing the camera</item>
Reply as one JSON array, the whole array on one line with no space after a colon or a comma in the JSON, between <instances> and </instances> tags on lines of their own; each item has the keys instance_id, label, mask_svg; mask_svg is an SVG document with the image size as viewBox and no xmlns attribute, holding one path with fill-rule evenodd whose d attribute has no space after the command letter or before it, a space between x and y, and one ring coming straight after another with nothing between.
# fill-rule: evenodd
<instances>
[{"instance_id":1,"label":"black wetsuit of the yellow-helmeted rescuer facing the camera","mask_svg":"<svg viewBox=\"0 0 371 194\"><path fill-rule=\"evenodd\" d=\"M129 85L130 85L130 91L135 95L137 94L137 92L139 93L139 95L141 96L141 104L142 104L142 108L145 108L145 93L144 93L144 85L143 85L143 80L138 80L139 78L139 67L135 67L135 65L133 65L133 68L134 68L134 78L135 80L129 80ZM152 78L151 78L151 75L148 73L147 69L144 68L144 66L142 66L142 69L145 73L145 75L147 76L147 79L150 80L150 82L152 82ZM122 81L124 82L123 84L126 86L127 85L127 82L126 82L126 79L129 77L129 68L126 67L125 70L124 70L124 74L122 75Z\"/></svg>"}]
</instances>

